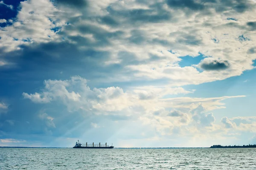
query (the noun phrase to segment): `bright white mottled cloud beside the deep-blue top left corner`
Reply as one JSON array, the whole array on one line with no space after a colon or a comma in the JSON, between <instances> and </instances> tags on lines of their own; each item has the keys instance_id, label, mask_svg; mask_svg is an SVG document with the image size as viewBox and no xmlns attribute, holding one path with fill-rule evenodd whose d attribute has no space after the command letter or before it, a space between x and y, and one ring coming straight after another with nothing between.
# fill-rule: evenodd
<instances>
[{"instance_id":1,"label":"bright white mottled cloud beside the deep-blue top left corner","mask_svg":"<svg viewBox=\"0 0 256 170\"><path fill-rule=\"evenodd\" d=\"M20 49L18 46L22 44L50 42L58 37L51 28L61 21L55 24L51 21L55 20L54 12L58 10L49 0L23 1L20 2L20 8L15 22L0 30L0 47L13 51Z\"/></svg>"}]
</instances>

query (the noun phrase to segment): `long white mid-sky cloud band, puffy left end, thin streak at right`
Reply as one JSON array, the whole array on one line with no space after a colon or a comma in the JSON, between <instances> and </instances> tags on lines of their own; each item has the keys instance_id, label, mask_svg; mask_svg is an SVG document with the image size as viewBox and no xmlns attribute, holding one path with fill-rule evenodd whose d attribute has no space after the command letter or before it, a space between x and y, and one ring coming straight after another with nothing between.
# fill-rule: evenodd
<instances>
[{"instance_id":1,"label":"long white mid-sky cloud band, puffy left end, thin streak at right","mask_svg":"<svg viewBox=\"0 0 256 170\"><path fill-rule=\"evenodd\" d=\"M145 112L154 108L185 108L190 109L191 104L204 102L207 110L225 108L222 100L233 97L218 98L190 98L177 97L161 99L166 94L190 93L183 88L131 88L124 92L119 87L93 88L87 86L87 80L75 76L68 80L45 80L45 87L41 93L23 93L24 98L36 103L61 102L69 111L89 111L94 114L116 114L117 111L132 111L132 108L142 107ZM140 90L138 90L140 89ZM175 92L176 91L176 92ZM145 100L147 99L147 100ZM125 114L125 113L124 113ZM130 115L129 113L128 115ZM127 116L128 116L127 115Z\"/></svg>"}]
</instances>

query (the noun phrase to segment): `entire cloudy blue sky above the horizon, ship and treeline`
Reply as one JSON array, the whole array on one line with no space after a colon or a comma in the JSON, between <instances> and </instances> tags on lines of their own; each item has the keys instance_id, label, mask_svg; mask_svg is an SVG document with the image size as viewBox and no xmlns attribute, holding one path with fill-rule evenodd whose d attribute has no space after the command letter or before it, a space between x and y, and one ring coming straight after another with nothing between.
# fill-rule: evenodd
<instances>
[{"instance_id":1,"label":"entire cloudy blue sky above the horizon, ship and treeline","mask_svg":"<svg viewBox=\"0 0 256 170\"><path fill-rule=\"evenodd\" d=\"M0 146L256 144L255 0L0 0Z\"/></svg>"}]
</instances>

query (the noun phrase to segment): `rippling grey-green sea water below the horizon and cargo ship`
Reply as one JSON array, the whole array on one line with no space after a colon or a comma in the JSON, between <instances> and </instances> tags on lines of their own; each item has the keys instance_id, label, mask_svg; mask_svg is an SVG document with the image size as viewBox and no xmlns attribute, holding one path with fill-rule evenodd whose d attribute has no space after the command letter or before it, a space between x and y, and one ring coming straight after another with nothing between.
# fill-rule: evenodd
<instances>
[{"instance_id":1,"label":"rippling grey-green sea water below the horizon and cargo ship","mask_svg":"<svg viewBox=\"0 0 256 170\"><path fill-rule=\"evenodd\" d=\"M249 170L256 148L0 148L0 170Z\"/></svg>"}]
</instances>

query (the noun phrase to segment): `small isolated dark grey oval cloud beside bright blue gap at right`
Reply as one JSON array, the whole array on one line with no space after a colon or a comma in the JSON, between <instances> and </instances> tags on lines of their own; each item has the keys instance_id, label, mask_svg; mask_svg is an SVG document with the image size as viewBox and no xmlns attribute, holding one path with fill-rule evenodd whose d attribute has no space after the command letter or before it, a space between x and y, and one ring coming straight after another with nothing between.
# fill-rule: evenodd
<instances>
[{"instance_id":1,"label":"small isolated dark grey oval cloud beside bright blue gap at right","mask_svg":"<svg viewBox=\"0 0 256 170\"><path fill-rule=\"evenodd\" d=\"M199 67L210 71L210 70L224 70L230 67L230 63L227 60L221 60L221 59L203 59L199 63Z\"/></svg>"}]
</instances>

